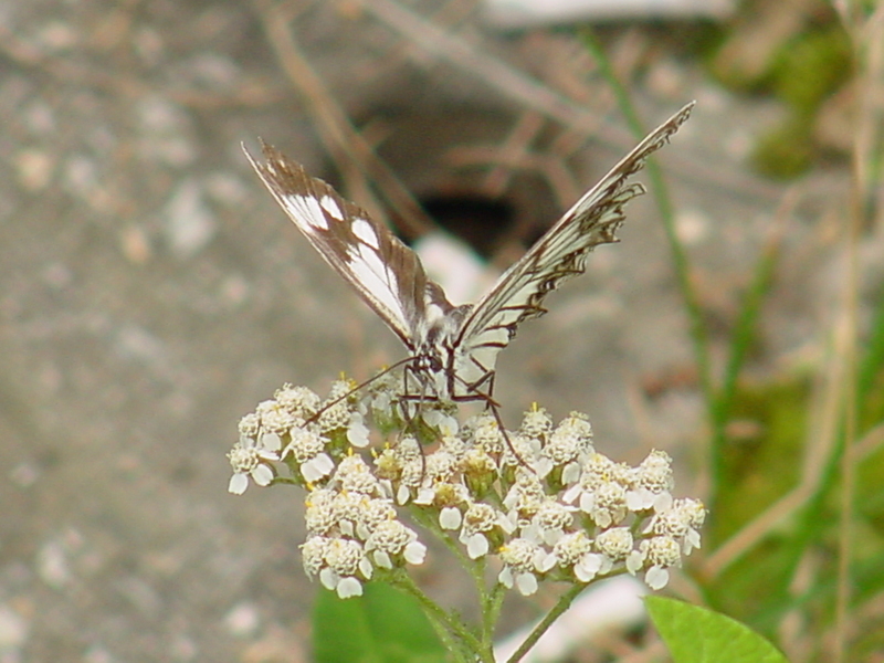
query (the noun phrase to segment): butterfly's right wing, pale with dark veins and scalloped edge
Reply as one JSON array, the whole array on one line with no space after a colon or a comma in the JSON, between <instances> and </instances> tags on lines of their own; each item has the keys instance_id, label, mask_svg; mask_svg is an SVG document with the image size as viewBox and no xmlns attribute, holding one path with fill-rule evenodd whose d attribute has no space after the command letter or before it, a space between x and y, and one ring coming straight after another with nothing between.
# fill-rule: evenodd
<instances>
[{"instance_id":1,"label":"butterfly's right wing, pale with dark veins and scalloped edge","mask_svg":"<svg viewBox=\"0 0 884 663\"><path fill-rule=\"evenodd\" d=\"M693 102L686 105L623 157L475 304L455 341L461 357L459 370L467 385L494 370L497 352L523 320L546 313L543 302L548 293L583 273L592 249L617 241L623 206L644 192L644 187L627 185L627 180L644 166L649 155L669 141L693 107Z\"/></svg>"}]
</instances>

